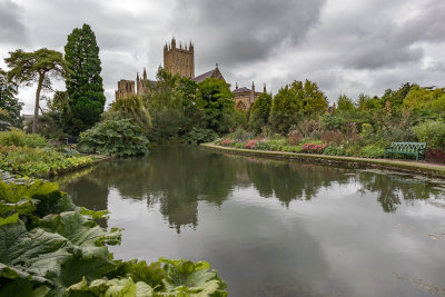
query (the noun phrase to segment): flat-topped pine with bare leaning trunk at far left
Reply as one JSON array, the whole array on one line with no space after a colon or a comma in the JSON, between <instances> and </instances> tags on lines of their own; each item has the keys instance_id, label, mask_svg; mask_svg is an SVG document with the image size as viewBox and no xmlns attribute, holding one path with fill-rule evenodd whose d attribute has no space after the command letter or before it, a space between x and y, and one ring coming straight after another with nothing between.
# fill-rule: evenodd
<instances>
[{"instance_id":1,"label":"flat-topped pine with bare leaning trunk at far left","mask_svg":"<svg viewBox=\"0 0 445 297\"><path fill-rule=\"evenodd\" d=\"M33 52L24 52L21 49L10 52L10 57L4 59L11 69L8 72L8 80L14 81L18 86L31 86L37 81L34 118L32 132L38 132L40 95L43 90L51 90L52 78L66 78L69 73L68 63L59 51L39 49Z\"/></svg>"}]
</instances>

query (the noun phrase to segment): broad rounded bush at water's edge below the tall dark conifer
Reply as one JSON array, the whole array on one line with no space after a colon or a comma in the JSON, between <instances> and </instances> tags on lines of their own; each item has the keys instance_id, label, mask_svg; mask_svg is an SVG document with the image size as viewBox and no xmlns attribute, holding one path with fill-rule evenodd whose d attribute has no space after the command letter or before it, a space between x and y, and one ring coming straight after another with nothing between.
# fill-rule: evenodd
<instances>
[{"instance_id":1,"label":"broad rounded bush at water's edge below the tall dark conifer","mask_svg":"<svg viewBox=\"0 0 445 297\"><path fill-rule=\"evenodd\" d=\"M144 155L148 139L130 119L106 120L80 135L79 150L118 157Z\"/></svg>"}]
</instances>

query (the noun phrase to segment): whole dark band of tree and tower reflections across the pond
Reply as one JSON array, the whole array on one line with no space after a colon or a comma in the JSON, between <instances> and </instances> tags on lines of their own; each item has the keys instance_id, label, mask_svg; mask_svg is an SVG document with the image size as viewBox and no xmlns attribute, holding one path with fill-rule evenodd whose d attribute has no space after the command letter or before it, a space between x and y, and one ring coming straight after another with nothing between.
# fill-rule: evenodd
<instances>
[{"instance_id":1,"label":"whole dark band of tree and tower reflections across the pond","mask_svg":"<svg viewBox=\"0 0 445 297\"><path fill-rule=\"evenodd\" d=\"M362 195L374 194L385 212L395 212L404 201L443 198L431 184L406 176L225 156L185 146L158 147L146 158L101 164L86 176L62 180L61 187L76 204L91 209L107 208L110 188L122 199L147 199L149 208L160 204L160 212L180 232L181 226L197 226L199 200L220 206L236 187L253 185L261 197L289 207L332 185L348 184L358 184Z\"/></svg>"}]
</instances>

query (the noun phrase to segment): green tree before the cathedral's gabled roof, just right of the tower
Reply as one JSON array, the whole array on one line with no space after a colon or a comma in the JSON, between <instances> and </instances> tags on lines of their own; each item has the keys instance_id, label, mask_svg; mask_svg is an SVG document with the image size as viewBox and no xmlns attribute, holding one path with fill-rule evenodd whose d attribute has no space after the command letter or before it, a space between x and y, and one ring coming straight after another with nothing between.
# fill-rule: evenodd
<instances>
[{"instance_id":1,"label":"green tree before the cathedral's gabled roof, just right of the tower","mask_svg":"<svg viewBox=\"0 0 445 297\"><path fill-rule=\"evenodd\" d=\"M206 128L224 133L231 127L235 115L234 95L230 85L216 78L198 83L197 106L202 112Z\"/></svg>"}]
</instances>

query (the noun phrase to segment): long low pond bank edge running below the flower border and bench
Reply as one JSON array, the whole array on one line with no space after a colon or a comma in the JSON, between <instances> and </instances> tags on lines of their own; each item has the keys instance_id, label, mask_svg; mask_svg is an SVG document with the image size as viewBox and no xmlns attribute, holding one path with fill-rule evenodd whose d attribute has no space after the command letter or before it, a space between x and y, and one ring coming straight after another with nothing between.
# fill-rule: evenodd
<instances>
[{"instance_id":1,"label":"long low pond bank edge running below the flower border and bench","mask_svg":"<svg viewBox=\"0 0 445 297\"><path fill-rule=\"evenodd\" d=\"M389 170L417 174L435 178L445 178L445 165L427 164L422 161L395 160L395 159L369 159L360 157L238 149L231 147L217 146L214 143L202 143L200 146L205 149L210 149L219 152L243 155L243 156L263 157L271 159L291 159L312 164L322 164L322 165L355 168L355 169L358 168L389 169Z\"/></svg>"}]
</instances>

